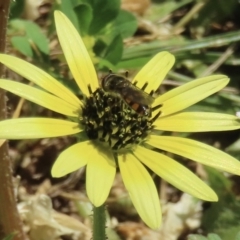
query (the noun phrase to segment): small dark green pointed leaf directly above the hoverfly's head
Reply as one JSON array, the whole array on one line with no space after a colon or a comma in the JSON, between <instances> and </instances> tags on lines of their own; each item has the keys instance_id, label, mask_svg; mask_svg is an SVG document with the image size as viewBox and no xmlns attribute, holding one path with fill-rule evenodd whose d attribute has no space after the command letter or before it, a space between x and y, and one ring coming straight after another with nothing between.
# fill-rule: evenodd
<instances>
[{"instance_id":1,"label":"small dark green pointed leaf directly above the hoverfly's head","mask_svg":"<svg viewBox=\"0 0 240 240\"><path fill-rule=\"evenodd\" d=\"M107 52L104 58L112 64L117 64L121 60L122 53L123 41L121 35L118 35L113 39L113 41L107 48Z\"/></svg>"}]
</instances>

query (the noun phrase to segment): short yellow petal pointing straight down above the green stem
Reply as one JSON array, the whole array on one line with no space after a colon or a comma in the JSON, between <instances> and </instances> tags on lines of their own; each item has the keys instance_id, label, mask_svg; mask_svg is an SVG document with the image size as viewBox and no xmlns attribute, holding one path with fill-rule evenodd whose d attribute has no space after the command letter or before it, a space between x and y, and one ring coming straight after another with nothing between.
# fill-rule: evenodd
<instances>
[{"instance_id":1,"label":"short yellow petal pointing straight down above the green stem","mask_svg":"<svg viewBox=\"0 0 240 240\"><path fill-rule=\"evenodd\" d=\"M107 199L116 174L116 165L109 149L92 145L88 152L87 195L94 206L101 206Z\"/></svg>"}]
</instances>

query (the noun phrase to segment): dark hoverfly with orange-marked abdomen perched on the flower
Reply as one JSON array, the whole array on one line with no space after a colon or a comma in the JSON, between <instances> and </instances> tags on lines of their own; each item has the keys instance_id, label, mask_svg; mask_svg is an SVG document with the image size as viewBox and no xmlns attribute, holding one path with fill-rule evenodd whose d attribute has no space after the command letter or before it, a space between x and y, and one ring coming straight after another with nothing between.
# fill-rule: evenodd
<instances>
[{"instance_id":1,"label":"dark hoverfly with orange-marked abdomen perched on the flower","mask_svg":"<svg viewBox=\"0 0 240 240\"><path fill-rule=\"evenodd\" d=\"M109 73L102 79L102 88L105 92L123 99L139 115L150 116L150 105L154 98L136 87L127 78Z\"/></svg>"}]
</instances>

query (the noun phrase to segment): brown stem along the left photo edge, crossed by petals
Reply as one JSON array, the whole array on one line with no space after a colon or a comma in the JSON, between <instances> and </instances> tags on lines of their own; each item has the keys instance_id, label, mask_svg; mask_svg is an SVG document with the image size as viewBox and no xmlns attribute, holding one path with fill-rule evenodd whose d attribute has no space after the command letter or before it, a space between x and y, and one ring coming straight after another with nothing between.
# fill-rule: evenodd
<instances>
[{"instance_id":1,"label":"brown stem along the left photo edge, crossed by petals","mask_svg":"<svg viewBox=\"0 0 240 240\"><path fill-rule=\"evenodd\" d=\"M10 0L0 0L0 52L5 52L7 20ZM0 77L3 76L0 65ZM6 97L0 90L0 119L6 118ZM12 163L8 156L8 145L0 141L0 239L13 236L14 240L24 239L21 220L17 211L12 177Z\"/></svg>"}]
</instances>

